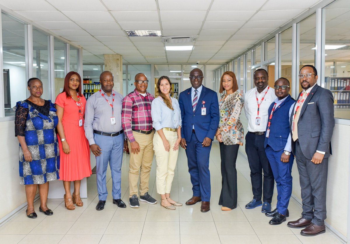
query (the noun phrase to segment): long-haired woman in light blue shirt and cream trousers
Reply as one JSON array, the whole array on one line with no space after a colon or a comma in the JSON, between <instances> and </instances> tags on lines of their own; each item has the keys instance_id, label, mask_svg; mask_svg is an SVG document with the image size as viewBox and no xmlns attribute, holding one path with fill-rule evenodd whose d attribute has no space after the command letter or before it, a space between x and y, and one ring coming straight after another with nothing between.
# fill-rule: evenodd
<instances>
[{"instance_id":1,"label":"long-haired woman in light blue shirt and cream trousers","mask_svg":"<svg viewBox=\"0 0 350 244\"><path fill-rule=\"evenodd\" d=\"M152 101L151 115L156 132L153 138L153 150L157 161L156 186L161 195L161 206L176 209L182 206L170 198L174 169L181 141L181 112L177 99L170 96L172 82L168 76L162 76L157 82L158 97Z\"/></svg>"}]
</instances>

